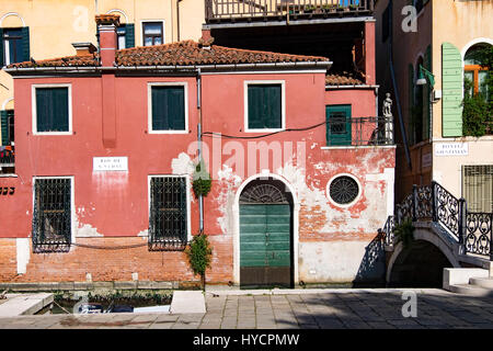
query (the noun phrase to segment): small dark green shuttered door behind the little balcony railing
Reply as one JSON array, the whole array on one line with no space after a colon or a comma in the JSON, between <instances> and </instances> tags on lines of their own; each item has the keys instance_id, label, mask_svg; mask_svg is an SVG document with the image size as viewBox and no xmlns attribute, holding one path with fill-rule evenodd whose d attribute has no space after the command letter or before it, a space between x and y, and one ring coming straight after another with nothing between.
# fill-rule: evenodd
<instances>
[{"instance_id":1,"label":"small dark green shuttered door behind the little balcony railing","mask_svg":"<svg viewBox=\"0 0 493 351\"><path fill-rule=\"evenodd\" d=\"M351 105L331 105L325 107L328 146L351 145Z\"/></svg>"}]
</instances>

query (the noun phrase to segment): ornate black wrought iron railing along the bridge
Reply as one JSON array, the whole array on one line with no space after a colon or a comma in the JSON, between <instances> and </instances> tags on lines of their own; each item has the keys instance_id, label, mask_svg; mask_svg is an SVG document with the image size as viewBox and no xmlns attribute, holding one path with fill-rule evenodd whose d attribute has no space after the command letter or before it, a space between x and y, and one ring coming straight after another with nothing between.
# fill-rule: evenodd
<instances>
[{"instance_id":1,"label":"ornate black wrought iron railing along the bridge","mask_svg":"<svg viewBox=\"0 0 493 351\"><path fill-rule=\"evenodd\" d=\"M394 215L387 218L379 231L387 245L394 244L393 229L404 220L439 223L465 247L466 253L493 260L493 213L468 212L465 199L457 199L437 182L413 186L411 194L395 205Z\"/></svg>"}]
</instances>

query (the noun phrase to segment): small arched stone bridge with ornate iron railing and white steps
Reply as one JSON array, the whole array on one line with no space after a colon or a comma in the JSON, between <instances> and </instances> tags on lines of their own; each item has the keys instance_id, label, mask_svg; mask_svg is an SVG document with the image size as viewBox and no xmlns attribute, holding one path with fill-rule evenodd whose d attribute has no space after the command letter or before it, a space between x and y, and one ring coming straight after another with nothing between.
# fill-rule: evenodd
<instances>
[{"instance_id":1,"label":"small arched stone bridge with ornate iron railing and white steps","mask_svg":"<svg viewBox=\"0 0 493 351\"><path fill-rule=\"evenodd\" d=\"M387 285L493 294L492 222L492 213L468 212L466 200L436 182L414 185L380 230ZM410 241L395 235L405 224L412 224Z\"/></svg>"}]
</instances>

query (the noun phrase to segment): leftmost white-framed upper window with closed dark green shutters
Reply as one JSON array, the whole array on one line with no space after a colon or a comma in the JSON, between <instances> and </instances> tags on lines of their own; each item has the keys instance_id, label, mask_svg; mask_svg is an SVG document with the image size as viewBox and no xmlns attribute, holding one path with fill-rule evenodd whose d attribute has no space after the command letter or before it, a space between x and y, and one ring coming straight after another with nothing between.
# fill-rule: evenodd
<instances>
[{"instance_id":1,"label":"leftmost white-framed upper window with closed dark green shutters","mask_svg":"<svg viewBox=\"0 0 493 351\"><path fill-rule=\"evenodd\" d=\"M34 135L72 134L71 84L33 84L32 109Z\"/></svg>"}]
</instances>

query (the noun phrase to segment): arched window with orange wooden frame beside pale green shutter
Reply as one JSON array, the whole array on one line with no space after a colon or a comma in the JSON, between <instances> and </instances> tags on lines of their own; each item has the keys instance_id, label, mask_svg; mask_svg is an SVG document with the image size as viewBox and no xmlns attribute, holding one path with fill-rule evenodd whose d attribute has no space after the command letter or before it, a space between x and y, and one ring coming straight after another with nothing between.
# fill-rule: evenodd
<instances>
[{"instance_id":1,"label":"arched window with orange wooden frame beside pale green shutter","mask_svg":"<svg viewBox=\"0 0 493 351\"><path fill-rule=\"evenodd\" d=\"M492 55L492 45L475 44L469 48L465 56L465 89L466 92L481 93L488 100L489 95L489 59Z\"/></svg>"}]
</instances>

